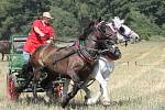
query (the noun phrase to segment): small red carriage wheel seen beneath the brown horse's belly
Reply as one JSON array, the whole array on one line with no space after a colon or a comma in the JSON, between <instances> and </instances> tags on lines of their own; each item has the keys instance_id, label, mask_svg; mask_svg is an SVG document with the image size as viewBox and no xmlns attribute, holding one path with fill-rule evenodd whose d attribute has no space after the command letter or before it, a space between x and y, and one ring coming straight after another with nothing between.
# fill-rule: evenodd
<instances>
[{"instance_id":1,"label":"small red carriage wheel seen beneath the brown horse's belly","mask_svg":"<svg viewBox=\"0 0 165 110\"><path fill-rule=\"evenodd\" d=\"M62 95L63 95L63 84L62 82L56 82L56 86L55 86L55 95L56 95L56 98L62 98Z\"/></svg>"}]
</instances>

